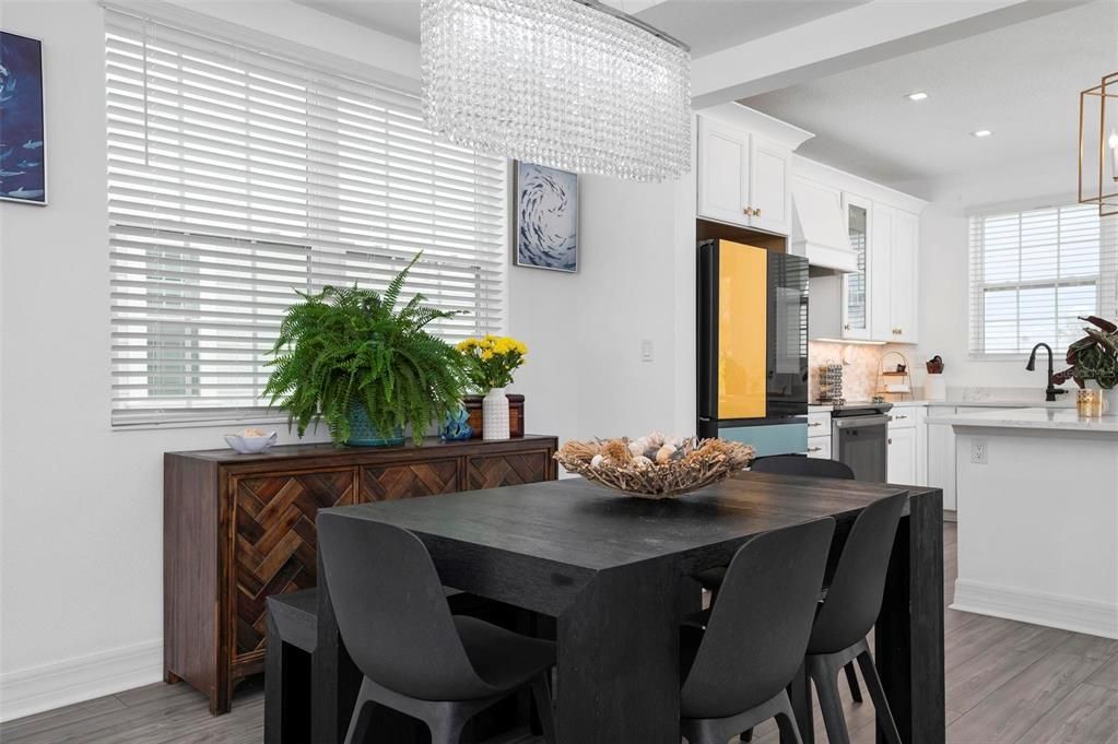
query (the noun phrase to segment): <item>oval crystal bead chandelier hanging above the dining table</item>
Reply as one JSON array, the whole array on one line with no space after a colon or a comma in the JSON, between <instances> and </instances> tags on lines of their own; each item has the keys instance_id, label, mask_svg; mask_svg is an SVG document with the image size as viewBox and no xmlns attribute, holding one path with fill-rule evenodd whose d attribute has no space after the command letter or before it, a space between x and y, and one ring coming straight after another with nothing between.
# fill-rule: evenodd
<instances>
[{"instance_id":1,"label":"oval crystal bead chandelier hanging above the dining table","mask_svg":"<svg viewBox=\"0 0 1118 744\"><path fill-rule=\"evenodd\" d=\"M691 164L691 54L594 0L423 0L424 111L451 142L635 181Z\"/></svg>"}]
</instances>

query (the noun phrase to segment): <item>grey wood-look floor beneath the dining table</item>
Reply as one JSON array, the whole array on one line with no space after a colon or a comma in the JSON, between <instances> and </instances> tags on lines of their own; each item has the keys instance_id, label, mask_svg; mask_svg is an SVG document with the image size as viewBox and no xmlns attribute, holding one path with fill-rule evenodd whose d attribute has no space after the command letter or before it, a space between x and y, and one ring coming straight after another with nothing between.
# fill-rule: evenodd
<instances>
[{"instance_id":1,"label":"grey wood-look floor beneath the dining table","mask_svg":"<svg viewBox=\"0 0 1118 744\"><path fill-rule=\"evenodd\" d=\"M950 602L955 525L944 530ZM1118 744L1118 641L946 610L949 744ZM847 695L852 744L874 740L873 707ZM816 712L816 741L826 742ZM263 684L243 685L233 713L210 717L186 685L149 685L0 724L3 744L256 744L263 740ZM754 741L775 744L776 726ZM501 744L542 744L528 735Z\"/></svg>"}]
</instances>

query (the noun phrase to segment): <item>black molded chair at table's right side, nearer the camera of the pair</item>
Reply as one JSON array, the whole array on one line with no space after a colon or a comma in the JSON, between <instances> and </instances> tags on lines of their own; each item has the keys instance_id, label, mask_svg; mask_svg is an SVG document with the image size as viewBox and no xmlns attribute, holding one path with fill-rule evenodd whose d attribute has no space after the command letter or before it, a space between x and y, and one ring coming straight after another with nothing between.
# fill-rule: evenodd
<instances>
[{"instance_id":1,"label":"black molded chair at table's right side, nearer the camera of the pair","mask_svg":"<svg viewBox=\"0 0 1118 744\"><path fill-rule=\"evenodd\" d=\"M726 744L769 718L800 743L786 688L804 662L834 530L826 518L752 537L705 629L681 629L680 728L690 744Z\"/></svg>"}]
</instances>

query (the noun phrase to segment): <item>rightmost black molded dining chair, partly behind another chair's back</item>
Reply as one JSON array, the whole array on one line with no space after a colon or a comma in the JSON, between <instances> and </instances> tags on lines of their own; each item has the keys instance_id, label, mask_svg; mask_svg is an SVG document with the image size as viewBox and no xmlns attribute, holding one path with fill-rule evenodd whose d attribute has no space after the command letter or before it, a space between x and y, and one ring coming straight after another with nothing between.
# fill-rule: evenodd
<instances>
[{"instance_id":1,"label":"rightmost black molded dining chair, partly behind another chair's back","mask_svg":"<svg viewBox=\"0 0 1118 744\"><path fill-rule=\"evenodd\" d=\"M850 744L837 675L839 669L855 659L885 741L901 744L865 638L881 611L889 556L906 502L908 494L898 494L862 509L846 537L831 588L815 616L805 669L815 683L831 744Z\"/></svg>"}]
</instances>

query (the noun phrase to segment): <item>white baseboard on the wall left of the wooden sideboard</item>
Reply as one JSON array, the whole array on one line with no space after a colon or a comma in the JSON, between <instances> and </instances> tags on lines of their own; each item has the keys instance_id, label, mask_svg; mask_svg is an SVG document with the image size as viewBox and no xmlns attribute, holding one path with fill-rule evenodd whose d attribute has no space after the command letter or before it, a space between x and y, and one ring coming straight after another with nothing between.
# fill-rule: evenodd
<instances>
[{"instance_id":1,"label":"white baseboard on the wall left of the wooden sideboard","mask_svg":"<svg viewBox=\"0 0 1118 744\"><path fill-rule=\"evenodd\" d=\"M121 693L162 678L162 640L9 671L0 675L0 721Z\"/></svg>"}]
</instances>

